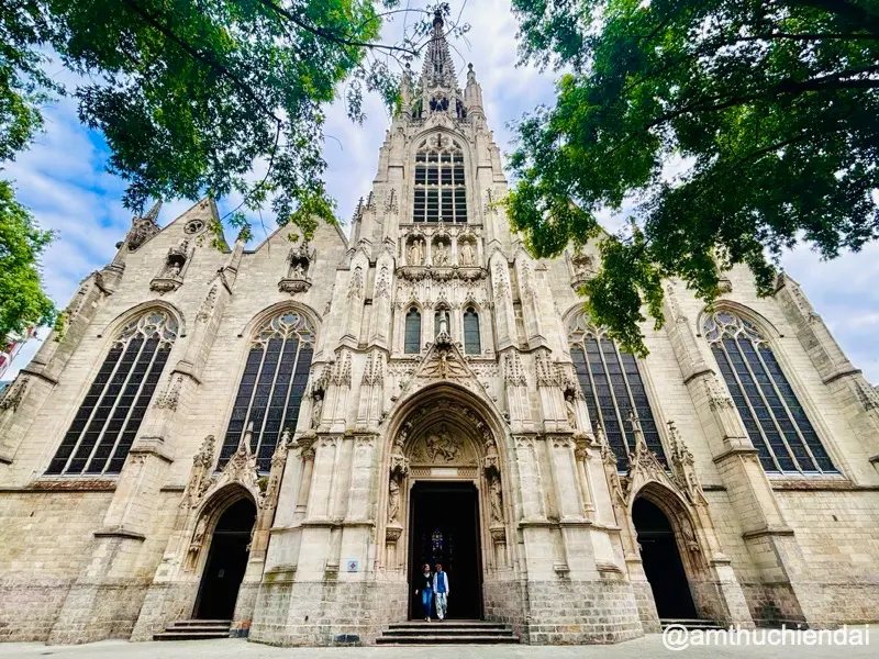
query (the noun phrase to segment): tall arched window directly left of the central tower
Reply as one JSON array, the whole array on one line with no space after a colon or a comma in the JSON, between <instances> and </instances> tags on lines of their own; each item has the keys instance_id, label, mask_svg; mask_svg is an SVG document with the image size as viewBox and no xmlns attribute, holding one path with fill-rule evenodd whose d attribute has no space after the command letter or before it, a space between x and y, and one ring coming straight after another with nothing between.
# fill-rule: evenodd
<instances>
[{"instance_id":1,"label":"tall arched window directly left of the central tower","mask_svg":"<svg viewBox=\"0 0 879 659\"><path fill-rule=\"evenodd\" d=\"M296 426L314 354L314 327L298 311L283 311L256 333L238 384L232 418L220 451L220 467L235 453L242 433L253 423L251 450L260 471L283 428Z\"/></svg>"}]
</instances>

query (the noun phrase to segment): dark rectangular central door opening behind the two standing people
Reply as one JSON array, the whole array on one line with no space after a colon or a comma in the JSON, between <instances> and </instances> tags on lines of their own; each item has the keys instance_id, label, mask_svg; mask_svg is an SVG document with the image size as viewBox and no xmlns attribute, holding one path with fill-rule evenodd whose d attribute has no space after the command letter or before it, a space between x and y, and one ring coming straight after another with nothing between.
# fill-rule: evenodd
<instances>
[{"instance_id":1,"label":"dark rectangular central door opening behind the two standing people","mask_svg":"<svg viewBox=\"0 0 879 659\"><path fill-rule=\"evenodd\" d=\"M409 617L421 619L414 579L421 566L443 565L448 574L448 618L481 619L482 565L479 498L472 483L420 482L412 488L409 518ZM432 615L435 615L435 608Z\"/></svg>"}]
</instances>

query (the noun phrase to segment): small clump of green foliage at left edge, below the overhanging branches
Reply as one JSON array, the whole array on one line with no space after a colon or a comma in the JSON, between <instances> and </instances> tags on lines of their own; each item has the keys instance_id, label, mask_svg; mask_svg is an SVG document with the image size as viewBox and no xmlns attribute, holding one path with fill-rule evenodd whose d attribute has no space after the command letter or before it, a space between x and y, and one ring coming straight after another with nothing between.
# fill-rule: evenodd
<instances>
[{"instance_id":1,"label":"small clump of green foliage at left edge, below the overhanging branches","mask_svg":"<svg viewBox=\"0 0 879 659\"><path fill-rule=\"evenodd\" d=\"M15 201L12 187L0 181L0 346L27 327L49 323L55 308L42 290L38 259L52 234L36 227Z\"/></svg>"}]
</instances>

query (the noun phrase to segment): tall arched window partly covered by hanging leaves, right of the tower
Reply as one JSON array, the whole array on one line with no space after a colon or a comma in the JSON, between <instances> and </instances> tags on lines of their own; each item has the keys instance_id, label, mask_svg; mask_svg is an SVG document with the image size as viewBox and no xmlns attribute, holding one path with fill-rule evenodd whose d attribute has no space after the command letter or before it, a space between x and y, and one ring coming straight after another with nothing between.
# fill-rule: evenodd
<instances>
[{"instance_id":1,"label":"tall arched window partly covered by hanging leaves, right of the tower","mask_svg":"<svg viewBox=\"0 0 879 659\"><path fill-rule=\"evenodd\" d=\"M616 347L603 331L589 324L583 314L568 326L570 357L586 396L592 423L601 423L616 466L626 468L626 455L635 448L630 422L637 414L644 442L665 462L663 443L656 427L637 360Z\"/></svg>"}]
</instances>

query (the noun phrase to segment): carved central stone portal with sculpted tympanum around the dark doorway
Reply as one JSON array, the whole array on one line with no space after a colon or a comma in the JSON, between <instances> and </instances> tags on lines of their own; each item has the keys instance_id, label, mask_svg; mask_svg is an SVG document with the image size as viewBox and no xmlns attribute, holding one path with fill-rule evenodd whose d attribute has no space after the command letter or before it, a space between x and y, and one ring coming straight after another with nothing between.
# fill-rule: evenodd
<instances>
[{"instance_id":1,"label":"carved central stone portal with sculpted tympanum around the dark doorway","mask_svg":"<svg viewBox=\"0 0 879 659\"><path fill-rule=\"evenodd\" d=\"M381 507L386 570L409 583L421 560L446 556L454 566L449 579L467 584L450 587L470 602L458 607L449 599L449 617L481 617L486 573L509 565L507 521L511 514L504 499L509 474L496 432L470 398L457 388L439 386L420 392L399 412L399 423L390 429ZM445 514L444 498L467 510L457 517ZM431 541L436 545L427 547L425 543ZM455 551L465 555L449 555L444 545L449 541L460 543Z\"/></svg>"}]
</instances>

